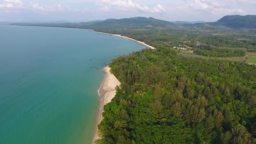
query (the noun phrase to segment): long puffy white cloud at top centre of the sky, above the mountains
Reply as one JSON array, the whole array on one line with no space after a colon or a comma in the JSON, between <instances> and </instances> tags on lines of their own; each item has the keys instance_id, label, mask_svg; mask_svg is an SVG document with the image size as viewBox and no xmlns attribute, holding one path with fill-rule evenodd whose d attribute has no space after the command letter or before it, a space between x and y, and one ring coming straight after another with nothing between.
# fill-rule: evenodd
<instances>
[{"instance_id":1,"label":"long puffy white cloud at top centre of the sky, above the mountains","mask_svg":"<svg viewBox=\"0 0 256 144\"><path fill-rule=\"evenodd\" d=\"M100 10L105 10L105 8L112 6L122 11L135 10L149 13L163 13L166 11L160 4L150 8L148 6L141 6L138 3L134 3L132 0L100 0L96 4L101 7Z\"/></svg>"}]
</instances>

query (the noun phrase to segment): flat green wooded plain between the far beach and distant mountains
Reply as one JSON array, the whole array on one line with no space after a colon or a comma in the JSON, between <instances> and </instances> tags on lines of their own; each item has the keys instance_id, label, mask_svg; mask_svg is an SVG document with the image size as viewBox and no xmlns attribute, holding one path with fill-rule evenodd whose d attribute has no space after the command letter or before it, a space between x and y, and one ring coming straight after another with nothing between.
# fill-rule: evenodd
<instances>
[{"instance_id":1,"label":"flat green wooded plain between the far beach and distant mountains","mask_svg":"<svg viewBox=\"0 0 256 144\"><path fill-rule=\"evenodd\" d=\"M208 44L211 47L222 49L243 48L256 49L256 32L225 31L205 29L95 29L103 33L120 34L145 42L151 46L165 46L172 48L182 43L190 47L197 47L197 43ZM250 39L241 42L238 38ZM186 43L190 41L190 43Z\"/></svg>"}]
</instances>

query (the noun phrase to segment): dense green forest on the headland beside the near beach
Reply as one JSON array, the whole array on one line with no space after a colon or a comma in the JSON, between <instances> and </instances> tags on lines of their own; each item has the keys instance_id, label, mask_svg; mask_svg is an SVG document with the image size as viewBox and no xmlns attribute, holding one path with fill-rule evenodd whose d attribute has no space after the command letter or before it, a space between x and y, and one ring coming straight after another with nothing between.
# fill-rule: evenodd
<instances>
[{"instance_id":1,"label":"dense green forest on the headland beside the near beach","mask_svg":"<svg viewBox=\"0 0 256 144\"><path fill-rule=\"evenodd\" d=\"M253 144L256 67L143 49L110 65L120 80L98 144Z\"/></svg>"}]
</instances>

